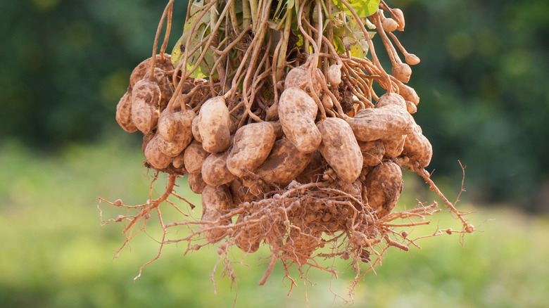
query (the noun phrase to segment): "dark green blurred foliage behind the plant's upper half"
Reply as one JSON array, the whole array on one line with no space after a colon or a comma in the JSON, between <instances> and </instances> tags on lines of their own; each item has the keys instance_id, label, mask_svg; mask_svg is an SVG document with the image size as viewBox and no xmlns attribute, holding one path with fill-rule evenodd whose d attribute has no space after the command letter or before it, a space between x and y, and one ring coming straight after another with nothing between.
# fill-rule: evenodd
<instances>
[{"instance_id":1,"label":"dark green blurred foliage behind the plant's upper half","mask_svg":"<svg viewBox=\"0 0 549 308\"><path fill-rule=\"evenodd\" d=\"M180 22L172 44L182 32L186 2L175 2ZM549 3L389 5L403 9L407 25L398 37L422 58L410 85L422 98L416 119L434 145L435 175L458 186L461 160L467 165L464 198L547 210ZM118 130L115 105L132 68L150 56L164 6L145 0L1 1L0 138L56 150Z\"/></svg>"}]
</instances>

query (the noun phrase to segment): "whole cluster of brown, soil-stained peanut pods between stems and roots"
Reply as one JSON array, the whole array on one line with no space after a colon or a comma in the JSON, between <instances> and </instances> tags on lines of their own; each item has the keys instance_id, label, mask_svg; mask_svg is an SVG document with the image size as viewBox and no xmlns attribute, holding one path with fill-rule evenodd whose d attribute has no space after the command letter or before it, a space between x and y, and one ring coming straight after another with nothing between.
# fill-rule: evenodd
<instances>
[{"instance_id":1,"label":"whole cluster of brown, soil-stained peanut pods between stems and roots","mask_svg":"<svg viewBox=\"0 0 549 308\"><path fill-rule=\"evenodd\" d=\"M327 77L320 71L311 75L307 63L289 70L274 120L248 121L238 127L222 96L201 102L198 113L183 103L181 97L190 89L175 93L169 55L156 56L152 70L151 62L145 60L132 72L116 120L125 131L144 134L147 166L188 174L191 191L202 195L203 222L229 226L232 217L226 214L245 207L235 224L244 222L248 214L257 212L261 200L310 183L348 193L382 219L402 192L402 167L422 169L431 160L431 144L410 114L410 101L399 94L384 94L374 108L355 108L352 116L321 116L323 106L313 96L323 102L331 98L315 78L337 86L340 65L332 65ZM326 221L322 215L317 218ZM227 235L227 228L205 226L209 243ZM295 229L288 238L295 238L291 232ZM263 240L270 245L281 240L260 237L250 229L233 236L245 252L254 252Z\"/></svg>"}]
</instances>

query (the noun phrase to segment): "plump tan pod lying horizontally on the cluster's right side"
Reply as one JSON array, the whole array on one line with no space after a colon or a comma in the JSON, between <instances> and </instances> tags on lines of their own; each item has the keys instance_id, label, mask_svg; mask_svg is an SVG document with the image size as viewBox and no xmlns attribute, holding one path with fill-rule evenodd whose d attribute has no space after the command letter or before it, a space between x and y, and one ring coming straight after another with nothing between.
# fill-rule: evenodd
<instances>
[{"instance_id":1,"label":"plump tan pod lying horizontally on the cluster's right side","mask_svg":"<svg viewBox=\"0 0 549 308\"><path fill-rule=\"evenodd\" d=\"M367 108L347 119L358 141L393 139L412 131L413 118L398 105Z\"/></svg>"}]
</instances>

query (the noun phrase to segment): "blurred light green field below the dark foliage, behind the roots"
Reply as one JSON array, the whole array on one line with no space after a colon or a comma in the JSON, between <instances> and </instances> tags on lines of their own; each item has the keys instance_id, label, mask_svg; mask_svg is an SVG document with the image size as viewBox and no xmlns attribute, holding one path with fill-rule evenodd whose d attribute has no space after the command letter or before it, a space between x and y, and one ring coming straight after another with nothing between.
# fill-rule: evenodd
<instances>
[{"instance_id":1,"label":"blurred light green field below the dark foliage, behind the roots","mask_svg":"<svg viewBox=\"0 0 549 308\"><path fill-rule=\"evenodd\" d=\"M129 148L129 149L127 149ZM0 148L0 303L1 307L343 307L334 293L348 298L353 271L336 261L339 279L311 269L310 281L286 296L290 283L277 265L269 283L258 286L268 250L235 265L238 284L218 271L217 294L210 273L217 247L182 256L184 247L165 246L162 257L139 267L158 251L158 223L149 222L132 249L113 260L124 237L122 225L100 226L98 197L127 204L148 198L149 179L140 166L138 146L115 142L68 146L62 155L41 157L16 143ZM421 186L408 177L405 187ZM180 195L199 198L178 182ZM161 189L161 181L157 188ZM416 201L410 188L400 204ZM433 197L428 197L433 200ZM422 200L422 201L429 201ZM187 209L184 203L178 203ZM469 216L479 232L420 240L421 250L389 250L383 264L355 288L354 307L547 307L549 302L549 219L513 210L486 209ZM103 218L125 214L101 204ZM166 210L166 219L182 219ZM200 207L194 210L199 217ZM484 224L483 224L484 222ZM448 212L410 236L460 225ZM170 233L175 237L177 234ZM239 255L234 252L235 257ZM244 264L246 263L246 264ZM297 273L293 273L298 278Z\"/></svg>"}]
</instances>

